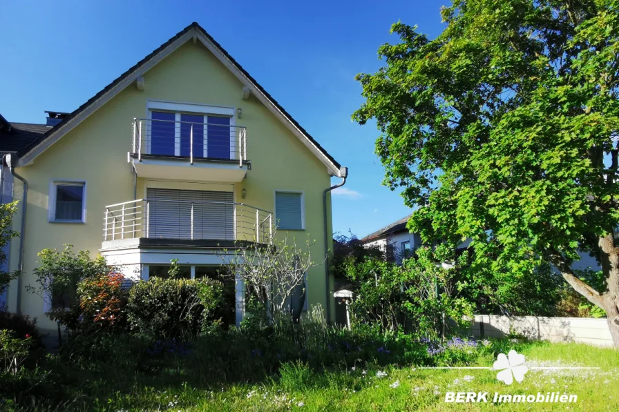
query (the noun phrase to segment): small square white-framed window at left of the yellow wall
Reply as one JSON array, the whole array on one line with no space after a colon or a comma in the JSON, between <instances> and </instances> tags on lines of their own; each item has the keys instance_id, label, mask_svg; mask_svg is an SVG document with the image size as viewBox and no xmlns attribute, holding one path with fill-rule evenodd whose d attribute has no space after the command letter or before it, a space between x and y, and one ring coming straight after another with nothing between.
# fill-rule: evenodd
<instances>
[{"instance_id":1,"label":"small square white-framed window at left of the yellow wall","mask_svg":"<svg viewBox=\"0 0 619 412\"><path fill-rule=\"evenodd\" d=\"M50 222L86 222L86 182L52 182Z\"/></svg>"}]
</instances>

